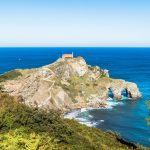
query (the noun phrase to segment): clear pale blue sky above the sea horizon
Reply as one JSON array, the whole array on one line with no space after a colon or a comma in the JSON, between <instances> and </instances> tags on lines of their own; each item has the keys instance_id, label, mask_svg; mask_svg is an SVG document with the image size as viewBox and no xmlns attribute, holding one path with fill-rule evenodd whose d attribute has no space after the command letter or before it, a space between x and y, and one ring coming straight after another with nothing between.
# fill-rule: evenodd
<instances>
[{"instance_id":1,"label":"clear pale blue sky above the sea horizon","mask_svg":"<svg viewBox=\"0 0 150 150\"><path fill-rule=\"evenodd\" d=\"M0 0L0 46L150 46L150 0Z\"/></svg>"}]
</instances>

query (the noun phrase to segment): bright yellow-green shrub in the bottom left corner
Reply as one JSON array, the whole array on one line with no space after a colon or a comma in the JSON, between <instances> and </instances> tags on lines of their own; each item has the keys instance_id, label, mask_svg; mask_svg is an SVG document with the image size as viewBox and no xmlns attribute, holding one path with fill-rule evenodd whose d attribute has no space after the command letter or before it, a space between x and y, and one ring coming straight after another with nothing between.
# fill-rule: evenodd
<instances>
[{"instance_id":1,"label":"bright yellow-green shrub in the bottom left corner","mask_svg":"<svg viewBox=\"0 0 150 150\"><path fill-rule=\"evenodd\" d=\"M0 135L1 150L56 150L56 141L47 134L28 133L26 128L10 130Z\"/></svg>"}]
</instances>

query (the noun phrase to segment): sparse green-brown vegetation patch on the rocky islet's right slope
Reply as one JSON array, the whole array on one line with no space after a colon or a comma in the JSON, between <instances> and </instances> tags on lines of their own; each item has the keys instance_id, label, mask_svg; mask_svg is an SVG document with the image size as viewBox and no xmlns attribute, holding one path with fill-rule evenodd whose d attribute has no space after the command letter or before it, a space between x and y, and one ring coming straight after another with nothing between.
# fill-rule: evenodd
<instances>
[{"instance_id":1,"label":"sparse green-brown vegetation patch on the rocky islet's right slope","mask_svg":"<svg viewBox=\"0 0 150 150\"><path fill-rule=\"evenodd\" d=\"M61 86L72 99L80 94L86 101L91 94L103 95L103 93L107 93L106 87L111 82L112 79L108 77L101 77L98 80L91 81L87 75L84 75L83 77L72 75L69 80L70 85Z\"/></svg>"}]
</instances>

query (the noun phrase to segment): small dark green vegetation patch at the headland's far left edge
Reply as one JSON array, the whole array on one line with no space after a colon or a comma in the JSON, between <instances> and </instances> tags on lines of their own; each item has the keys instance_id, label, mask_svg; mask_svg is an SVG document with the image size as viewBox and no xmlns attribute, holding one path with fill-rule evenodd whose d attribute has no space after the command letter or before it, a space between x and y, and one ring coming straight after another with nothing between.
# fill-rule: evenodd
<instances>
[{"instance_id":1,"label":"small dark green vegetation patch at the headland's far left edge","mask_svg":"<svg viewBox=\"0 0 150 150\"><path fill-rule=\"evenodd\" d=\"M0 82L4 82L6 80L13 80L19 76L22 76L22 73L19 70L12 70L10 72L0 75Z\"/></svg>"}]
</instances>

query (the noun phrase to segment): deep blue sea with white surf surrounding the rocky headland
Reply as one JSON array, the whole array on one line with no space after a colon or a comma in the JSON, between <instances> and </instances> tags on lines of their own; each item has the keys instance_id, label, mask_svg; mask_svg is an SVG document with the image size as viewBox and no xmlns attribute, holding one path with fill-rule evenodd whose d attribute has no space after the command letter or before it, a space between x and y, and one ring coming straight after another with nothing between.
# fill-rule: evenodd
<instances>
[{"instance_id":1,"label":"deep blue sea with white surf surrounding the rocky headland","mask_svg":"<svg viewBox=\"0 0 150 150\"><path fill-rule=\"evenodd\" d=\"M108 69L110 77L137 83L143 97L137 101L110 101L106 109L84 109L69 114L80 123L111 130L126 140L150 147L146 124L150 100L150 48L0 48L0 73L50 64L63 53L82 56L86 62Z\"/></svg>"}]
</instances>

